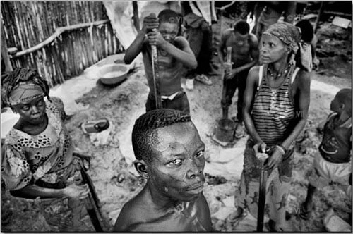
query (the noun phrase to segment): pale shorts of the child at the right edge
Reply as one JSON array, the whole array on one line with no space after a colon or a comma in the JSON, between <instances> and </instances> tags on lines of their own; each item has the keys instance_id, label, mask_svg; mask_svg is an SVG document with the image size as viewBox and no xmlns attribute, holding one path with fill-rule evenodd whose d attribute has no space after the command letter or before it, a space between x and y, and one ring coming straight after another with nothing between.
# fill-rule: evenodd
<instances>
[{"instance_id":1,"label":"pale shorts of the child at the right edge","mask_svg":"<svg viewBox=\"0 0 353 234\"><path fill-rule=\"evenodd\" d=\"M313 161L313 171L309 176L309 183L315 187L328 186L330 181L349 185L349 177L352 173L352 163L334 164L326 161L320 152L316 152Z\"/></svg>"}]
</instances>

